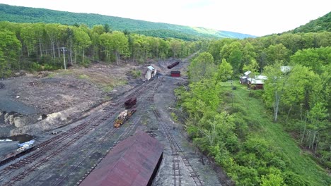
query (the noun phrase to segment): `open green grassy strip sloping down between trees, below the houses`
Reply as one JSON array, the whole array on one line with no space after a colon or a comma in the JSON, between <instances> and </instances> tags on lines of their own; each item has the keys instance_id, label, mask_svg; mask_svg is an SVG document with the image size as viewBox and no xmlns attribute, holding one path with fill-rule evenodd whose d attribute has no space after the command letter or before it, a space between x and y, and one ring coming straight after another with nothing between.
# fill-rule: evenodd
<instances>
[{"instance_id":1,"label":"open green grassy strip sloping down between trees, below the houses","mask_svg":"<svg viewBox=\"0 0 331 186\"><path fill-rule=\"evenodd\" d=\"M231 84L226 82L223 84L226 90L231 91ZM298 147L296 142L292 139L279 123L272 122L272 114L267 112L265 104L262 99L259 99L257 92L254 97L249 96L249 91L244 85L235 83L237 87L233 90L233 106L244 107L247 109L247 116L251 122L249 126L254 128L250 130L250 135L262 137L273 144L274 147L281 149L284 156L288 159L287 166L291 171L302 175L311 185L330 185L331 178L327 173L318 166L315 161L310 158L309 154ZM231 98L227 98L228 106L231 106ZM256 126L256 127L254 127Z\"/></svg>"}]
</instances>

